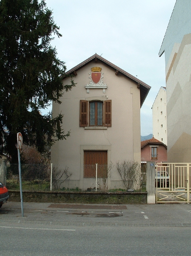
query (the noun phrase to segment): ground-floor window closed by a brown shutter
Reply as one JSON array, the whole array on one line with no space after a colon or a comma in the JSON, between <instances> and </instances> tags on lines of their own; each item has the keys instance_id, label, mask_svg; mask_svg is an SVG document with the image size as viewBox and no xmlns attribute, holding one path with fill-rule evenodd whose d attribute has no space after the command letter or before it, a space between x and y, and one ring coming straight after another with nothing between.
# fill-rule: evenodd
<instances>
[{"instance_id":1,"label":"ground-floor window closed by a brown shutter","mask_svg":"<svg viewBox=\"0 0 191 256\"><path fill-rule=\"evenodd\" d=\"M84 150L84 178L95 178L96 163L97 177L107 178L106 150Z\"/></svg>"}]
</instances>

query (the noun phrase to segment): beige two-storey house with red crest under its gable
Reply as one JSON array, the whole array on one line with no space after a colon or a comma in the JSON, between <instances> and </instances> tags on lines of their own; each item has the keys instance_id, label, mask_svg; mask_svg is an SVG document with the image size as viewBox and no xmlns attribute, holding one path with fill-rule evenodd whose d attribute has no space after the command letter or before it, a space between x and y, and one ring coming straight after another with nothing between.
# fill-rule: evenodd
<instances>
[{"instance_id":1,"label":"beige two-storey house with red crest under its gable","mask_svg":"<svg viewBox=\"0 0 191 256\"><path fill-rule=\"evenodd\" d=\"M98 54L66 72L76 87L63 94L62 104L53 103L53 115L62 112L66 140L51 148L51 163L72 174L65 187L95 187L95 164L99 178L107 176L108 188L123 186L116 162L141 163L140 107L150 86ZM64 84L70 78L63 78ZM113 168L100 171L100 166ZM105 168L105 167L104 167Z\"/></svg>"}]
</instances>

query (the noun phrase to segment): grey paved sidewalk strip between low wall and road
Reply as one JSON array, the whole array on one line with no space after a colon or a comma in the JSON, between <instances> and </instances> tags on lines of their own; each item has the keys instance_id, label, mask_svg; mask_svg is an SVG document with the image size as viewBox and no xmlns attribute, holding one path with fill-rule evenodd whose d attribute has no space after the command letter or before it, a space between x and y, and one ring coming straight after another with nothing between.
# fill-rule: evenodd
<instances>
[{"instance_id":1,"label":"grey paved sidewalk strip between low wall and road","mask_svg":"<svg viewBox=\"0 0 191 256\"><path fill-rule=\"evenodd\" d=\"M7 202L0 209L3 223L47 226L191 227L191 204L97 205Z\"/></svg>"}]
</instances>

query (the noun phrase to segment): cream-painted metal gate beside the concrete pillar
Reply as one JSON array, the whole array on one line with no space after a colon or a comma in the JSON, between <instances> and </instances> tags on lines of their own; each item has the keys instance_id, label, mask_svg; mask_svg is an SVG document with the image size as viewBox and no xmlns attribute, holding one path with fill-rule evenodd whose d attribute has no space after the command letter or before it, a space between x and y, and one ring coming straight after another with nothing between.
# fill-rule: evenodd
<instances>
[{"instance_id":1,"label":"cream-painted metal gate beside the concrete pillar","mask_svg":"<svg viewBox=\"0 0 191 256\"><path fill-rule=\"evenodd\" d=\"M190 203L191 163L157 163L156 203Z\"/></svg>"}]
</instances>

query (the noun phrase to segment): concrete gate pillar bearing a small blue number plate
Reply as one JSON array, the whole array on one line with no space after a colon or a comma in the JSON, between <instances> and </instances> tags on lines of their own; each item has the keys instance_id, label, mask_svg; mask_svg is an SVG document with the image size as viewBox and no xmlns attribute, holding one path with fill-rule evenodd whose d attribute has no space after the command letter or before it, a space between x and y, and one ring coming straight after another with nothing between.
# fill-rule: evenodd
<instances>
[{"instance_id":1,"label":"concrete gate pillar bearing a small blue number plate","mask_svg":"<svg viewBox=\"0 0 191 256\"><path fill-rule=\"evenodd\" d=\"M147 162L147 204L155 204L155 162Z\"/></svg>"}]
</instances>

